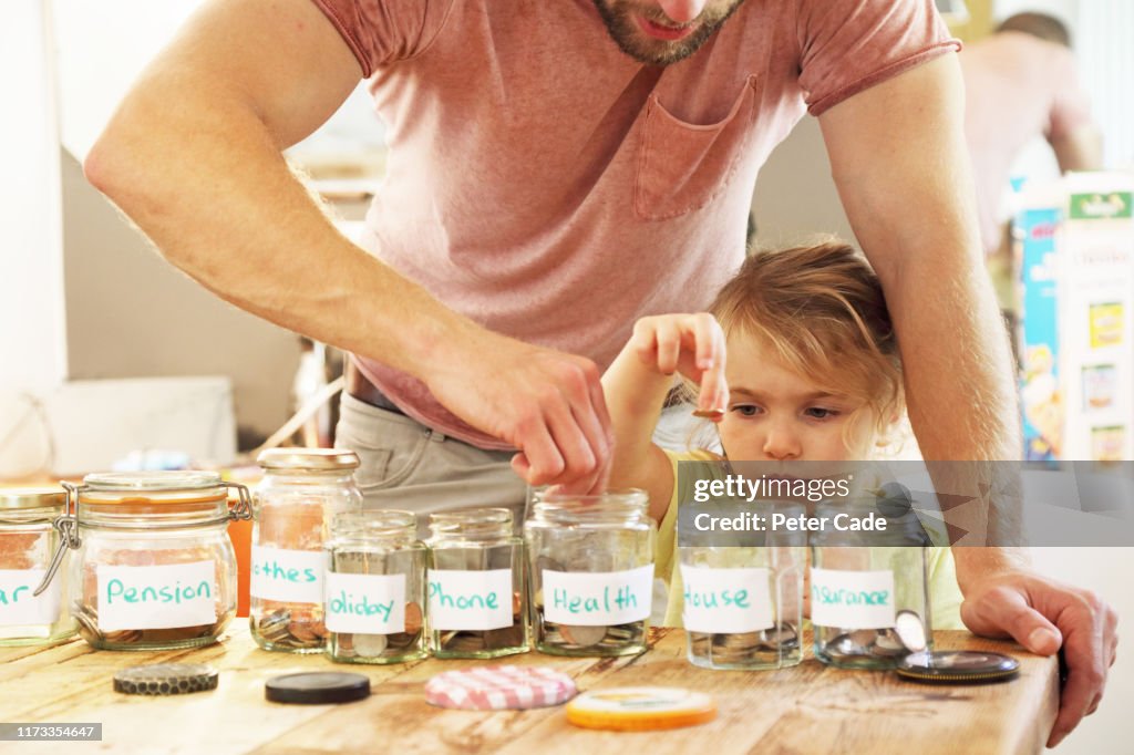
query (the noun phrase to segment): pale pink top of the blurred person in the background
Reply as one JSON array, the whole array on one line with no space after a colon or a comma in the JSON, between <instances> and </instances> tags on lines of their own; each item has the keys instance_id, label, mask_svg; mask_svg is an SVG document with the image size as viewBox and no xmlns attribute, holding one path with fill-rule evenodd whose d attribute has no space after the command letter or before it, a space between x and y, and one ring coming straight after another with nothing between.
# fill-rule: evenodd
<instances>
[{"instance_id":1,"label":"pale pink top of the blurred person in the background","mask_svg":"<svg viewBox=\"0 0 1134 755\"><path fill-rule=\"evenodd\" d=\"M1000 246L1000 198L1027 143L1064 136L1091 122L1070 50L1022 32L993 34L960 56L965 136L973 159L981 241Z\"/></svg>"}]
</instances>

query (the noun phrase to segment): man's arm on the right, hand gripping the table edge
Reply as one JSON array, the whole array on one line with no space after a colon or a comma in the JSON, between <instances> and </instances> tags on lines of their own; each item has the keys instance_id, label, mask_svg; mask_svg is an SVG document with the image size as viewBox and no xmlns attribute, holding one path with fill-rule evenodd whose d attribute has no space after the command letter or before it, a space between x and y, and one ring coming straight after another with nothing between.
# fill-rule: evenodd
<instances>
[{"instance_id":1,"label":"man's arm on the right, hand gripping the table edge","mask_svg":"<svg viewBox=\"0 0 1134 755\"><path fill-rule=\"evenodd\" d=\"M820 124L844 207L886 291L925 458L1018 459L1012 362L981 268L963 109L956 57L945 56L835 105ZM990 525L997 517L1010 527L1018 516L993 511ZM1098 706L1114 662L1114 611L1026 571L1017 552L954 555L970 629L1044 654L1063 644L1069 677L1053 746Z\"/></svg>"}]
</instances>

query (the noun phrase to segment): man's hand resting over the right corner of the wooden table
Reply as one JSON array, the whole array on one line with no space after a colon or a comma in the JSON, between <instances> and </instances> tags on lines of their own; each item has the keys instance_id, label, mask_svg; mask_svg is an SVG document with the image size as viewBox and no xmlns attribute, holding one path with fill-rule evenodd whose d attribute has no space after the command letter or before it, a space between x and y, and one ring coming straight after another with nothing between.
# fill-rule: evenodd
<instances>
[{"instance_id":1,"label":"man's hand resting over the right corner of the wooden table","mask_svg":"<svg viewBox=\"0 0 1134 755\"><path fill-rule=\"evenodd\" d=\"M1099 707L1115 662L1118 614L1094 593L1031 571L1004 571L965 591L960 618L978 635L1013 637L1038 655L1063 647L1067 682L1048 747Z\"/></svg>"}]
</instances>

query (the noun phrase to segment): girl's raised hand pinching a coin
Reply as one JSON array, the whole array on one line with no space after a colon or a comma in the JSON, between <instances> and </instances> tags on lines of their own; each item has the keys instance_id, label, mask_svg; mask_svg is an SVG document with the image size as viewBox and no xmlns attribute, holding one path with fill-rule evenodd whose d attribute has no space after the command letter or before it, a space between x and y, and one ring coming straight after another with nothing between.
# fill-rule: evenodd
<instances>
[{"instance_id":1,"label":"girl's raised hand pinching a coin","mask_svg":"<svg viewBox=\"0 0 1134 755\"><path fill-rule=\"evenodd\" d=\"M682 373L700 387L697 409L719 422L728 405L725 332L711 314L642 317L627 345L646 366L663 375Z\"/></svg>"}]
</instances>

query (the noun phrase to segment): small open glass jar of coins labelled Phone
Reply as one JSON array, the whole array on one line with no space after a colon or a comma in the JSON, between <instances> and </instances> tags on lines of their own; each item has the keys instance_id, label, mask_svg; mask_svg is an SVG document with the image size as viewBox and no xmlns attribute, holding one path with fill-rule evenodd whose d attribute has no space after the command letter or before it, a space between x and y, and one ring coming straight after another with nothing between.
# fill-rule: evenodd
<instances>
[{"instance_id":1,"label":"small open glass jar of coins labelled Phone","mask_svg":"<svg viewBox=\"0 0 1134 755\"><path fill-rule=\"evenodd\" d=\"M437 658L526 653L524 541L508 509L431 514L430 650Z\"/></svg>"}]
</instances>

